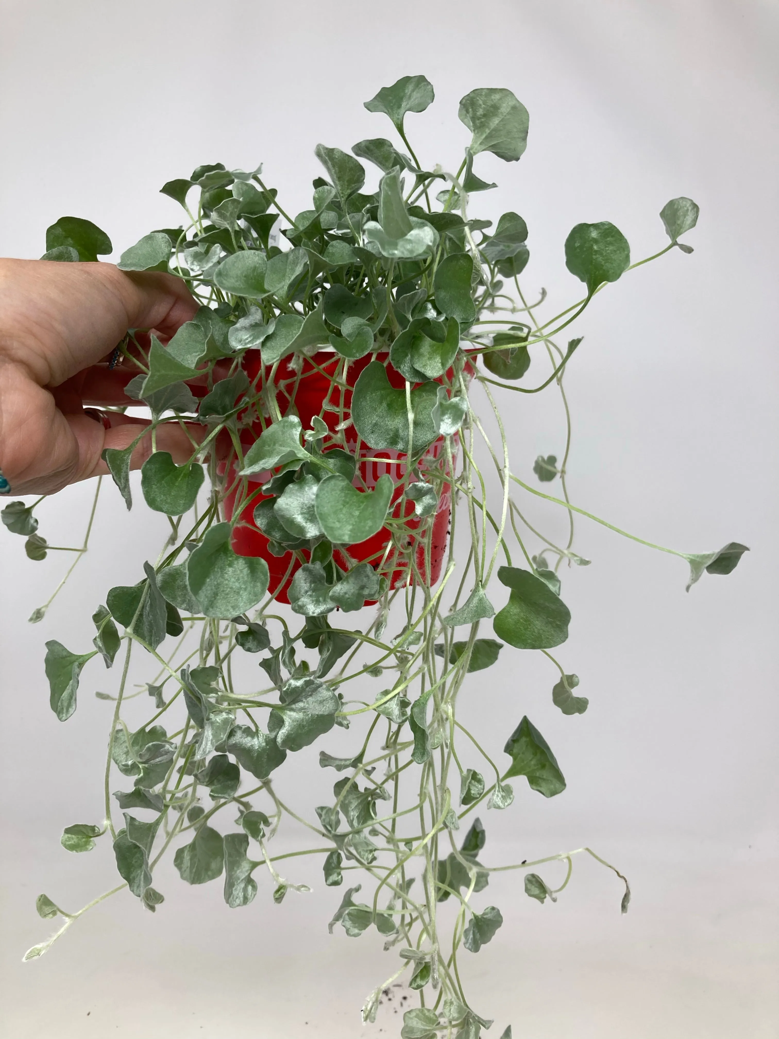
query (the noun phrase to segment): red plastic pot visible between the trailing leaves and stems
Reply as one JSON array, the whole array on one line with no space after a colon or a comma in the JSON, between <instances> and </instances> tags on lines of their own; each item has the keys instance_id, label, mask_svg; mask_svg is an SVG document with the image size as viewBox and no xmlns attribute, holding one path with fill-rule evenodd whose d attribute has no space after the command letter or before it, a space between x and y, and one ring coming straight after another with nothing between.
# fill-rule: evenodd
<instances>
[{"instance_id":1,"label":"red plastic pot visible between the trailing leaves and stems","mask_svg":"<svg viewBox=\"0 0 779 1039\"><path fill-rule=\"evenodd\" d=\"M378 354L378 359L383 362L386 359L386 356L387 355L385 353ZM340 418L339 411L323 411L322 405L324 404L328 390L330 389L328 375L334 375L341 362L341 357L329 350L321 350L311 359L303 357L299 377L298 373L293 370L291 366L292 359L292 357L289 357L279 364L274 378L277 388L276 399L278 401L279 410L283 415L285 415L289 405L292 404L294 400L294 410L299 416L303 429L311 428L314 417L319 416L326 423L327 427L334 431ZM369 354L359 361L352 362L348 366L346 382L350 388L354 387L360 372L367 367L371 359L371 355ZM243 367L246 374L252 381L260 374L261 365L262 359L260 351L247 351L244 357ZM322 369L322 371L319 371L318 368ZM405 385L403 376L396 372L394 368L387 366L386 372L391 384L396 389L402 389ZM473 369L468 365L466 366L466 377L469 378L472 374ZM266 377L269 377L269 375L270 368L266 366ZM335 387L330 393L330 402L337 409L340 407L341 403L341 389ZM344 414L348 416L351 406L352 394L351 390L345 390L343 392ZM244 430L241 434L244 447L248 449L262 431L263 427L259 422L254 423L250 429ZM354 431L354 427L348 427L345 430L345 434L349 450L353 452L357 445L357 436ZM444 437L441 436L434 441L425 452L421 462L423 472L426 459L431 463L434 463L436 467L439 464L438 459L440 458L442 450ZM359 468L359 475L365 481L366 487L368 487L369 490L372 490L376 486L379 477L383 476L384 473L388 473L396 483L399 483L403 479L405 474L405 455L401 454L399 451L376 451L369 448L367 445L361 444L357 457L357 465ZM233 468L233 473L235 473L235 467ZM240 523L237 524L234 529L233 549L238 553L238 555L241 556L262 557L267 562L268 569L270 571L270 584L268 590L270 592L276 592L277 602L289 603L287 595L289 586L292 581L292 577L301 564L299 561L296 561L290 569L291 556L289 553L281 557L273 555L273 553L271 553L268 549L268 538L262 533L261 530L258 529L253 520L253 510L257 505L264 499L270 497L262 494L256 495L256 492L260 491L260 487L267 480L269 480L272 475L273 474L270 472L258 473L247 481L248 495L252 496L252 498L249 504L243 509ZM224 499L224 511L229 520L233 517L237 494L238 487L232 490ZM399 499L401 497L402 488L399 486L397 487L393 498L393 501L398 503L394 512L396 517L400 516L401 502ZM431 584L435 584L440 577L444 555L447 550L447 540L449 537L451 508L451 486L449 484L445 484L444 492L438 499L438 506L433 518L429 575L429 581ZM408 527L409 532L412 532L420 526L421 521L413 516L413 503L410 501L406 501L405 503L405 514L406 526ZM367 540L360 541L358 544L349 545L347 551L353 561L365 562L368 560L374 565L378 565L383 558L384 551L390 540L390 531L386 527L382 527L378 533L369 537ZM303 551L303 554L307 557L307 553L305 553L305 551ZM387 561L392 561L393 555L394 552L391 551ZM347 560L343 557L339 559L339 562L344 565L348 565ZM428 576L426 574L425 548L423 544L420 544L417 548L415 563L420 572L425 575L426 580L428 580ZM384 565L386 566L386 562ZM392 570L390 577L391 587L394 588L399 584L404 584L407 580L407 561L399 560L398 565Z\"/></svg>"}]
</instances>

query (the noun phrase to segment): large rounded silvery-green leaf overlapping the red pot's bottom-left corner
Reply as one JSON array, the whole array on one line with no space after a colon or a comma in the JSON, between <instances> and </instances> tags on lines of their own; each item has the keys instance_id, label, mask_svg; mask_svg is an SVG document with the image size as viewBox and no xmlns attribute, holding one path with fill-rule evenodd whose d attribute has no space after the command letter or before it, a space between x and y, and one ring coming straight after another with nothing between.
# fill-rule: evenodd
<instances>
[{"instance_id":1,"label":"large rounded silvery-green leaf overlapping the red pot's bottom-left corner","mask_svg":"<svg viewBox=\"0 0 779 1039\"><path fill-rule=\"evenodd\" d=\"M233 528L216 524L187 561L187 580L207 617L235 617L260 602L268 589L264 559L238 556L230 543Z\"/></svg>"}]
</instances>

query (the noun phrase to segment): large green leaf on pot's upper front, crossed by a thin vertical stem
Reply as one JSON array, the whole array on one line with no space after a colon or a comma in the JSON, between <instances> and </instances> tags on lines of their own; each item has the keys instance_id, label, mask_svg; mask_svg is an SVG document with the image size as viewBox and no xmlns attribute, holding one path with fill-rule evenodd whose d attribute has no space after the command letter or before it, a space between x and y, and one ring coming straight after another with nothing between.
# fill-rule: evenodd
<instances>
[{"instance_id":1,"label":"large green leaf on pot's upper front, crossed by a thin vertical stem","mask_svg":"<svg viewBox=\"0 0 779 1039\"><path fill-rule=\"evenodd\" d=\"M435 439L437 432L432 411L437 385L425 382L411 391L413 412L412 455L420 454ZM354 427L369 447L409 453L408 411L404 390L395 390L380 361L373 361L359 375L352 396Z\"/></svg>"}]
</instances>

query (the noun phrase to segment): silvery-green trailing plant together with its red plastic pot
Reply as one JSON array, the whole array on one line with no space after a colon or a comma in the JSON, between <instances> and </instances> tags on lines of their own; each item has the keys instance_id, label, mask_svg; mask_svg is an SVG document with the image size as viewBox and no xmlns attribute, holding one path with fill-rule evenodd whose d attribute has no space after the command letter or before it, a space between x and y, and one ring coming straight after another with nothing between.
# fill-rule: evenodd
<instances>
[{"instance_id":1,"label":"silvery-green trailing plant together with its red plastic pot","mask_svg":"<svg viewBox=\"0 0 779 1039\"><path fill-rule=\"evenodd\" d=\"M157 559L137 561L137 583L95 604L92 647L47 643L61 721L76 710L84 668L91 677L102 661L118 672L113 692L96 694L109 701L105 816L68 826L62 844L77 853L112 844L122 883L76 913L39 896L39 914L64 923L25 959L116 891L156 911L156 869L172 854L187 883L220 880L231 908L260 887L275 903L317 880L343 887L330 931L378 931L392 955L364 1020L404 979L420 1000L404 1015L404 1039L478 1039L491 1022L466 993L463 961L502 924L485 894L492 873L520 870L530 898L556 901L574 856L588 853L624 881L627 909L624 877L589 848L484 861L480 809L555 797L565 778L521 710L495 719L482 746L457 705L471 673L519 649L548 660L562 715L587 710L577 676L550 652L570 621L563 564L589 562L573 550L574 515L633 535L569 500L563 383L574 353L576 363L585 354L581 337L558 338L627 271L692 252L679 238L698 207L669 202L661 217L670 242L634 263L614 224L577 224L565 262L586 291L542 319L545 294L529 302L518 279L525 220L507 212L492 228L468 210L472 195L495 187L475 172L478 156L518 160L527 110L510 90L466 95L459 117L472 138L449 172L426 168L406 135L406 115L432 101L424 76L379 90L366 107L390 117L395 142L362 140L351 155L317 145L325 176L294 219L261 167L198 166L162 188L186 221L122 255L123 270L168 271L199 303L169 342L136 329L108 362L125 373L127 406L146 408L151 424L105 461L129 509L131 457L146 447L141 495L170 534ZM375 192L364 192L360 159L380 170ZM100 229L74 217L49 228L46 244L44 259L60 262L111 251ZM514 406L545 389L562 397L565 448L536 459L535 486L512 471L496 399ZM183 463L156 449L169 424L190 437ZM555 481L558 495L541 489ZM87 539L100 492L99 482ZM527 496L567 512L564 543L531 526ZM37 533L37 505L2 512L33 560L53 549ZM689 555L633 539L686 559L688 588L704 571L730 572L746 551L731 542ZM73 566L86 548L85 539ZM139 659L143 682L131 691ZM334 727L352 736L345 756L324 749ZM315 743L332 794L293 807L285 774ZM522 777L534 793L510 781ZM284 850L283 835L301 826L312 847ZM558 860L567 872L553 887L542 867Z\"/></svg>"}]
</instances>

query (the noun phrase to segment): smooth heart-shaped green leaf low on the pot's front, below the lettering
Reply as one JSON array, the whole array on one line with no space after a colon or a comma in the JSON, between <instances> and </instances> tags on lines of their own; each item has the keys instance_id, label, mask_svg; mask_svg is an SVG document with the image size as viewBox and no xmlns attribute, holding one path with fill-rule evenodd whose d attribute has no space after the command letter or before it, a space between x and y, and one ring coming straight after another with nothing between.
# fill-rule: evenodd
<instances>
[{"instance_id":1,"label":"smooth heart-shaped green leaf low on the pot's front, below the lettering","mask_svg":"<svg viewBox=\"0 0 779 1039\"><path fill-rule=\"evenodd\" d=\"M319 484L315 501L325 537L339 544L357 544L372 537L384 525L394 487L386 473L379 477L375 490L365 491L357 490L344 476L326 477Z\"/></svg>"}]
</instances>

